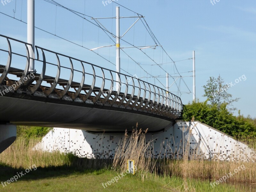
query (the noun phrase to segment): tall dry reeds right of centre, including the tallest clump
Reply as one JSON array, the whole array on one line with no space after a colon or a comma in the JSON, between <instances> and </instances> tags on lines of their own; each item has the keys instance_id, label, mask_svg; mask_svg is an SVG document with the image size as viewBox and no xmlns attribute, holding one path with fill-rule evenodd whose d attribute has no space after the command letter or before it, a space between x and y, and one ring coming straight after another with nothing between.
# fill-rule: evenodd
<instances>
[{"instance_id":1,"label":"tall dry reeds right of centre, including the tallest clump","mask_svg":"<svg viewBox=\"0 0 256 192\"><path fill-rule=\"evenodd\" d=\"M198 159L196 155L198 149L189 150L188 142L181 150L175 151L176 156L172 158L167 155L167 150L170 151L171 148L166 147L165 151L158 152L166 156L160 159L159 156L154 156L154 140L146 141L146 133L147 131L138 130L137 126L131 136L125 132L123 140L120 140L116 148L113 162L116 170L124 171L127 160L132 159L142 179L147 176L145 173L153 173L155 176L177 176L183 179L219 180L228 173L232 173L233 175L228 178L230 182L256 183L256 163ZM255 146L256 139L251 138L250 143ZM245 167L245 170L242 170L241 166ZM238 167L241 171L234 173Z\"/></svg>"}]
</instances>

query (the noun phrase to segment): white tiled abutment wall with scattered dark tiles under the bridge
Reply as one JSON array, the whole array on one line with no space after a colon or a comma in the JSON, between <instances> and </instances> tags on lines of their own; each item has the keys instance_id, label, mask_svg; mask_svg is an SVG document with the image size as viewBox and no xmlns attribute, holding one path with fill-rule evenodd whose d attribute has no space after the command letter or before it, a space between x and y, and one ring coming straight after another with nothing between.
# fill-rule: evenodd
<instances>
[{"instance_id":1,"label":"white tiled abutment wall with scattered dark tiles under the bridge","mask_svg":"<svg viewBox=\"0 0 256 192\"><path fill-rule=\"evenodd\" d=\"M123 136L54 128L35 148L49 152L73 152L79 157L113 158ZM164 132L146 133L146 142L150 141L154 157L177 158L189 154L189 158L197 159L256 162L255 151L247 145L200 122L179 121Z\"/></svg>"}]
</instances>

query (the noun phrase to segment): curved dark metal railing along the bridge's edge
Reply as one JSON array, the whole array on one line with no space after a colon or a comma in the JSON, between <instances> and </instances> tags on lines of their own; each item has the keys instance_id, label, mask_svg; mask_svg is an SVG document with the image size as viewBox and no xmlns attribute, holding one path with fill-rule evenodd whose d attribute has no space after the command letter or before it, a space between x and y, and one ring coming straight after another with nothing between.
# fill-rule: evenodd
<instances>
[{"instance_id":1,"label":"curved dark metal railing along the bridge's edge","mask_svg":"<svg viewBox=\"0 0 256 192\"><path fill-rule=\"evenodd\" d=\"M81 102L81 100L83 102L92 101L91 103L93 104L101 103L102 105L108 104L112 107L135 109L171 119L176 119L180 115L182 109L180 97L171 92L166 92L166 90L156 85L140 80L136 76L117 73L116 71L39 46L35 46L35 58L34 53L32 55L29 53L31 44L11 37L0 36L4 37L8 44L8 50L0 49L0 51L8 53L7 64L4 66L0 63L0 84L3 84L5 81L6 85L13 87L16 81L9 79L7 75L16 75L23 83L19 85L16 83L17 86L13 88L15 92L28 90L31 94L34 94L40 89L46 97L57 94L59 99L68 96L74 102ZM27 55L13 52L10 40L24 44ZM50 62L46 59L46 54L49 56L49 60L54 56L56 62ZM13 55L26 58L25 69L14 68L11 65ZM42 64L41 74L29 72L30 59L34 59ZM66 61L62 62L62 60ZM48 68L51 69L51 72L55 69L56 76L46 75ZM64 72L61 73L63 70ZM69 79L65 78L67 76L65 71L67 70L70 71ZM34 78L26 80L28 79L27 76L31 73L34 74L32 74ZM75 73L80 74L80 81L78 82L74 80L74 78L78 78ZM65 76L64 78L60 78L62 74ZM113 78L115 76L118 77L118 80ZM45 84L49 84L49 86Z\"/></svg>"}]
</instances>

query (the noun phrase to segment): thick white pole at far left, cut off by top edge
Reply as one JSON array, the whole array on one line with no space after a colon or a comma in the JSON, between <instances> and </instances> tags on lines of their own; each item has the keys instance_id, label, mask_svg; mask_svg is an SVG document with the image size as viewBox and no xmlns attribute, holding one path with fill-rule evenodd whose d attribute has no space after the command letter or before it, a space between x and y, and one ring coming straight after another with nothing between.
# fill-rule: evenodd
<instances>
[{"instance_id":1,"label":"thick white pole at far left, cut off by top edge","mask_svg":"<svg viewBox=\"0 0 256 192\"><path fill-rule=\"evenodd\" d=\"M35 50L35 0L28 0L28 25L27 25L27 41L31 46L28 46L29 56L33 57ZM35 71L35 60L30 59L29 70L30 72Z\"/></svg>"}]
</instances>

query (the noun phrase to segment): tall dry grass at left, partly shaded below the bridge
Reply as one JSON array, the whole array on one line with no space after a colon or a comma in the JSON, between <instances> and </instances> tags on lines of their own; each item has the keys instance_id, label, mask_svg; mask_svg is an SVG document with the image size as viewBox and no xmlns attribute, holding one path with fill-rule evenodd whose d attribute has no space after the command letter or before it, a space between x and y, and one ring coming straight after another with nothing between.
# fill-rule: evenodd
<instances>
[{"instance_id":1,"label":"tall dry grass at left, partly shaded below the bridge","mask_svg":"<svg viewBox=\"0 0 256 192\"><path fill-rule=\"evenodd\" d=\"M108 168L112 164L112 160L109 159L87 159L79 158L72 153L35 150L35 145L40 141L40 138L18 137L9 148L0 154L0 164L16 169L26 169L35 164L42 168L63 166L94 170Z\"/></svg>"}]
</instances>

